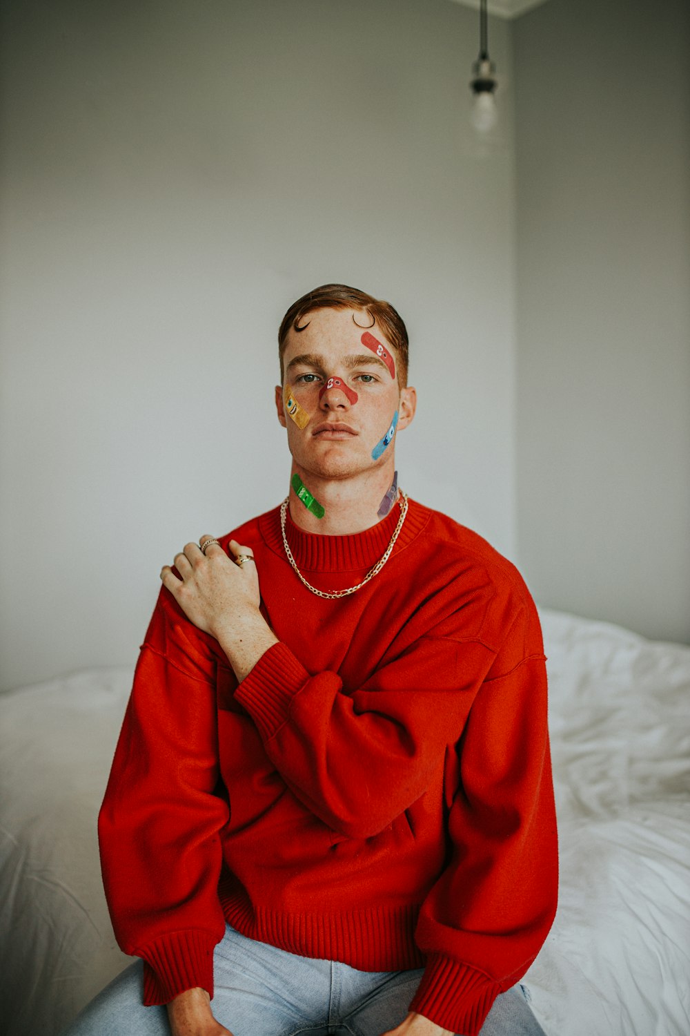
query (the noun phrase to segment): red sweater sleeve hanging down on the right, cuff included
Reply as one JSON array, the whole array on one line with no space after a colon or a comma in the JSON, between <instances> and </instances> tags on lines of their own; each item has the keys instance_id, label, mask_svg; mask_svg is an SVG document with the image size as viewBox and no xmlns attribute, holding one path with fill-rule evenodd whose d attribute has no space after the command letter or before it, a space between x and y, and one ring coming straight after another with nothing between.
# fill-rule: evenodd
<instances>
[{"instance_id":1,"label":"red sweater sleeve hanging down on the right, cuff included","mask_svg":"<svg viewBox=\"0 0 690 1036\"><path fill-rule=\"evenodd\" d=\"M556 914L558 843L543 657L487 680L457 752L450 861L417 926L411 1010L475 1036L535 959Z\"/></svg>"}]
</instances>

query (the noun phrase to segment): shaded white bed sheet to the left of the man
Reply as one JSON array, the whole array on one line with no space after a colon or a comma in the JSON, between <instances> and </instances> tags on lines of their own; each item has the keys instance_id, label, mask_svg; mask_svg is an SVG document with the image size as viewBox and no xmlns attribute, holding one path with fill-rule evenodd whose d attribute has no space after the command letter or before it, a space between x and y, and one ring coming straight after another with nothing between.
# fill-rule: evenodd
<instances>
[{"instance_id":1,"label":"shaded white bed sheet to the left of the man","mask_svg":"<svg viewBox=\"0 0 690 1036\"><path fill-rule=\"evenodd\" d=\"M6 1036L57 1036L131 960L110 924L95 828L130 687L130 668L92 669L0 695Z\"/></svg>"}]
</instances>

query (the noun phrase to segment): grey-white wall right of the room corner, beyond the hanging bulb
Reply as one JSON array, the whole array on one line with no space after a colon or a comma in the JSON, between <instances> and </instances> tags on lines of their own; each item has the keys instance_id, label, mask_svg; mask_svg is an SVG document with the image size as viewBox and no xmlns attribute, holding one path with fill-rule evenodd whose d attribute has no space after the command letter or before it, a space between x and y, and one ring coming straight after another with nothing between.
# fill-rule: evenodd
<instances>
[{"instance_id":1,"label":"grey-white wall right of the room corner, beyond the hanging bulb","mask_svg":"<svg viewBox=\"0 0 690 1036\"><path fill-rule=\"evenodd\" d=\"M690 639L690 5L514 24L517 485L540 601Z\"/></svg>"}]
</instances>

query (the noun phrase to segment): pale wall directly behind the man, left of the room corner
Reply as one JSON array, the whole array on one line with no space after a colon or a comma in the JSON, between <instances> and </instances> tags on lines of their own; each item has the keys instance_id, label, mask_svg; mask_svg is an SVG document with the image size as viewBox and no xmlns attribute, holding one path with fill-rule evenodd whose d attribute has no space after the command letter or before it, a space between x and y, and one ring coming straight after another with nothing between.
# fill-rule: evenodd
<instances>
[{"instance_id":1,"label":"pale wall directly behind the man, left of the room corner","mask_svg":"<svg viewBox=\"0 0 690 1036\"><path fill-rule=\"evenodd\" d=\"M277 503L275 333L305 290L389 298L414 496L514 553L504 143L464 119L450 0L5 0L1 686L133 663L160 566Z\"/></svg>"}]
</instances>

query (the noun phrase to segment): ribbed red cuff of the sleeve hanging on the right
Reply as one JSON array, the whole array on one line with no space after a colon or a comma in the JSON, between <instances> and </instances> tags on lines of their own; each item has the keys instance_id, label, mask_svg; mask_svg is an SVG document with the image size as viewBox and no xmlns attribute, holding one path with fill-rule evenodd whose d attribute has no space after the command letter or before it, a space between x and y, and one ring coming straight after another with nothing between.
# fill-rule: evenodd
<instances>
[{"instance_id":1,"label":"ribbed red cuff of the sleeve hanging on the right","mask_svg":"<svg viewBox=\"0 0 690 1036\"><path fill-rule=\"evenodd\" d=\"M477 1036L501 991L498 982L468 965L429 956L410 1010L423 1014L442 1029Z\"/></svg>"}]
</instances>

